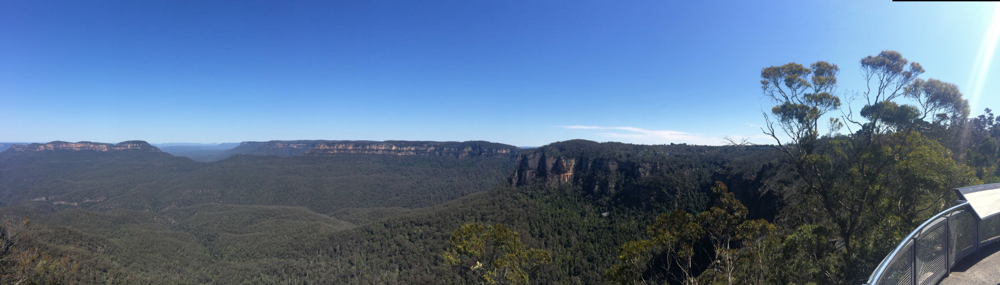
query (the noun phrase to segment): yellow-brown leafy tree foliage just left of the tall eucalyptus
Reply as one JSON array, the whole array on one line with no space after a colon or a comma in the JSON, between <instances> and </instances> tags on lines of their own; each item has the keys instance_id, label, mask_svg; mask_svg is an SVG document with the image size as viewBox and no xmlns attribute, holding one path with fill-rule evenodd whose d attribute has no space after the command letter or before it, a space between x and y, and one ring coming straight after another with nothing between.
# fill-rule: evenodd
<instances>
[{"instance_id":1,"label":"yellow-brown leafy tree foliage just left of the tall eucalyptus","mask_svg":"<svg viewBox=\"0 0 1000 285\"><path fill-rule=\"evenodd\" d=\"M776 227L764 219L747 220L747 208L726 185L716 181L713 204L692 215L682 209L661 214L647 228L650 239L621 246L621 263L605 278L616 284L764 284L775 273L774 252L780 248ZM704 239L709 248L704 247ZM714 255L699 270L699 249ZM642 260L647 253L661 260ZM662 262L659 267L649 266ZM674 267L676 266L676 267ZM700 271L700 272L699 272Z\"/></svg>"}]
</instances>

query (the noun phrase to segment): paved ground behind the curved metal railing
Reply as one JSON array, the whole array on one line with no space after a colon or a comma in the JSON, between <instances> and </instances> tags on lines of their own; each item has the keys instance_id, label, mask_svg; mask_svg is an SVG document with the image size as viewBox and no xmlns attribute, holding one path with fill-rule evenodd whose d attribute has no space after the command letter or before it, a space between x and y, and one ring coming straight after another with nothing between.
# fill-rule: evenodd
<instances>
[{"instance_id":1,"label":"paved ground behind the curved metal railing","mask_svg":"<svg viewBox=\"0 0 1000 285\"><path fill-rule=\"evenodd\" d=\"M966 256L939 285L1000 285L1000 242Z\"/></svg>"}]
</instances>

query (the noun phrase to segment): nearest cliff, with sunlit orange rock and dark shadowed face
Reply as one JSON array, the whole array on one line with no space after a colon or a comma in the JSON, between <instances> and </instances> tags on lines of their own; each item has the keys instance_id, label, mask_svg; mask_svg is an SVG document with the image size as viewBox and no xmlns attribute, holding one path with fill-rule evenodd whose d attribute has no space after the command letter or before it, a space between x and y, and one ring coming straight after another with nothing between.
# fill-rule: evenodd
<instances>
[{"instance_id":1,"label":"nearest cliff, with sunlit orange rock and dark shadowed face","mask_svg":"<svg viewBox=\"0 0 1000 285\"><path fill-rule=\"evenodd\" d=\"M715 166L698 153L718 146L645 145L572 140L518 157L513 186L570 186L595 199L644 209L704 210ZM704 148L704 149L702 149ZM709 170L712 168L713 170Z\"/></svg>"}]
</instances>

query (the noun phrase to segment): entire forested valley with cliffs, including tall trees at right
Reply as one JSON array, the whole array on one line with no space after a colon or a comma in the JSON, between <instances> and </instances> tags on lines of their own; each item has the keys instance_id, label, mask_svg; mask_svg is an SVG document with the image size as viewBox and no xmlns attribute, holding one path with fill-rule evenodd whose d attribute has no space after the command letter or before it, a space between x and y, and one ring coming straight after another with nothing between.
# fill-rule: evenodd
<instances>
[{"instance_id":1,"label":"entire forested valley with cliffs, including tall trees at right","mask_svg":"<svg viewBox=\"0 0 1000 285\"><path fill-rule=\"evenodd\" d=\"M18 146L0 282L861 284L1000 182L1000 122L897 52L860 68L852 96L831 63L764 68L767 143Z\"/></svg>"}]
</instances>

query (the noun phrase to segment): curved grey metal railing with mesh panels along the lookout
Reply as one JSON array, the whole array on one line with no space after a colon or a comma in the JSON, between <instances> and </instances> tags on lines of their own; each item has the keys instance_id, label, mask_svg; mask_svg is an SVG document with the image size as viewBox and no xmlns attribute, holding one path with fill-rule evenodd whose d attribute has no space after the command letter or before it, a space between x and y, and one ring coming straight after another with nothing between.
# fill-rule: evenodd
<instances>
[{"instance_id":1,"label":"curved grey metal railing with mesh panels along the lookout","mask_svg":"<svg viewBox=\"0 0 1000 285\"><path fill-rule=\"evenodd\" d=\"M979 248L1000 239L1000 215L980 220L969 202L946 209L918 226L893 249L866 285L933 285Z\"/></svg>"}]
</instances>

